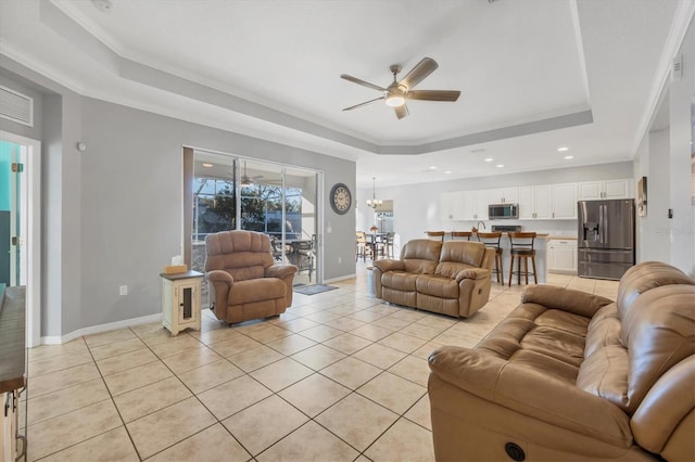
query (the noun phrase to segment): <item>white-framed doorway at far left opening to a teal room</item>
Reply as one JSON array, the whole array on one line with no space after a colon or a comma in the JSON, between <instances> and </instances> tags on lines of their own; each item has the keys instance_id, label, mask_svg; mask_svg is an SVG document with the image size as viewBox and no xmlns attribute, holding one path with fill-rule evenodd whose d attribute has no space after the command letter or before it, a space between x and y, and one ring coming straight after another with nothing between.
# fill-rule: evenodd
<instances>
[{"instance_id":1,"label":"white-framed doorway at far left opening to a teal room","mask_svg":"<svg viewBox=\"0 0 695 462\"><path fill-rule=\"evenodd\" d=\"M40 142L0 131L0 283L26 286L26 342L41 343Z\"/></svg>"}]
</instances>

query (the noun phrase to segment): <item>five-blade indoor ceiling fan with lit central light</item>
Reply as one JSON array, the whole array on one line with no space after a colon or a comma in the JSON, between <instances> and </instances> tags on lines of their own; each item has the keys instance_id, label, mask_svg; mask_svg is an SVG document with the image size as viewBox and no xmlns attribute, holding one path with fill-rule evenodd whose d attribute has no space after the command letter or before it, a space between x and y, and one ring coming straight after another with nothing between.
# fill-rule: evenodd
<instances>
[{"instance_id":1,"label":"five-blade indoor ceiling fan with lit central light","mask_svg":"<svg viewBox=\"0 0 695 462\"><path fill-rule=\"evenodd\" d=\"M396 75L401 72L401 66L393 64L389 69L393 74L393 82L387 88L379 87L378 85L369 84L348 74L342 74L340 78L352 81L363 87L371 88L377 91L381 91L383 94L374 100L365 101L364 103L355 104L354 106L345 107L343 111L352 111L357 107L365 106L374 103L375 101L384 100L387 106L393 107L395 115L399 119L408 115L408 107L405 105L406 100L420 100L420 101L447 101L454 102L458 100L460 91L456 90L413 90L413 88L422 81L427 76L432 74L439 64L431 57L424 57L422 61L417 63L413 69L401 81L396 80Z\"/></svg>"}]
</instances>

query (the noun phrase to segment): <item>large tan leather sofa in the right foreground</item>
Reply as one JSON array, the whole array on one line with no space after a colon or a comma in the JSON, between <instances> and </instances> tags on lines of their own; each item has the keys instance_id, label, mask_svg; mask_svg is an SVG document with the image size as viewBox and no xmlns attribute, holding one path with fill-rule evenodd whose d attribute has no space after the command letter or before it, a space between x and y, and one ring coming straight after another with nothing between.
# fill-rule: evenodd
<instances>
[{"instance_id":1,"label":"large tan leather sofa in the right foreground","mask_svg":"<svg viewBox=\"0 0 695 462\"><path fill-rule=\"evenodd\" d=\"M438 461L695 460L695 281L632 267L618 297L530 286L473 349L429 358Z\"/></svg>"}]
</instances>

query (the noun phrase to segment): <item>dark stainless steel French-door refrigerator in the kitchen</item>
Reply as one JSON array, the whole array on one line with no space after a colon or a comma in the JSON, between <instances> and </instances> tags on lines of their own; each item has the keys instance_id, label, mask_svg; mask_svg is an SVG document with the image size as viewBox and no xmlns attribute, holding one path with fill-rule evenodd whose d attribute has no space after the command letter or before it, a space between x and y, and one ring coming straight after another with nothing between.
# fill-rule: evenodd
<instances>
[{"instance_id":1,"label":"dark stainless steel French-door refrigerator in the kitchen","mask_svg":"<svg viewBox=\"0 0 695 462\"><path fill-rule=\"evenodd\" d=\"M580 201L578 273L618 280L634 265L634 201Z\"/></svg>"}]
</instances>

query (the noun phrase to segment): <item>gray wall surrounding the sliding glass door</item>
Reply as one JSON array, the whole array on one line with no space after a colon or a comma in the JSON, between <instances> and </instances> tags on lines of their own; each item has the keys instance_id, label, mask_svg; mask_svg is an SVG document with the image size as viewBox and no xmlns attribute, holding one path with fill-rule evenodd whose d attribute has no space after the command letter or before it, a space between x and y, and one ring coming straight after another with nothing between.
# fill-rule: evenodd
<instances>
[{"instance_id":1,"label":"gray wall surrounding the sliding glass door","mask_svg":"<svg viewBox=\"0 0 695 462\"><path fill-rule=\"evenodd\" d=\"M41 100L39 128L2 129L42 143L43 337L161 312L159 273L182 254L184 145L316 169L326 194L337 182L354 191L354 162L83 98L12 60L2 64L3 81ZM325 279L354 274L355 216L326 206L319 227Z\"/></svg>"}]
</instances>

